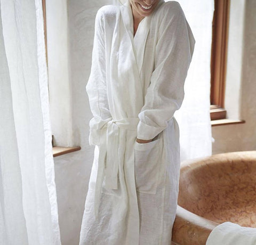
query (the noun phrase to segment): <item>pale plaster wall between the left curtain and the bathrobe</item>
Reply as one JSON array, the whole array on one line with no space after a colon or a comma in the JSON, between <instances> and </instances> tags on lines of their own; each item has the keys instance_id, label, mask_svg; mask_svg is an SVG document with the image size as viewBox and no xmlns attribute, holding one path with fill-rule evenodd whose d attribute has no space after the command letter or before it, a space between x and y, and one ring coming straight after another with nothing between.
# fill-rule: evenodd
<instances>
[{"instance_id":1,"label":"pale plaster wall between the left curtain and the bathrobe","mask_svg":"<svg viewBox=\"0 0 256 245\"><path fill-rule=\"evenodd\" d=\"M51 33L52 37L48 35L48 44L52 47L48 50L52 52L49 56L49 59L52 59L49 67L52 69L50 82L53 83L50 89L54 87L60 96L58 101L57 97L51 100L54 102L52 107L58 108L59 104L61 110L57 114L52 110L51 116L52 120L59 121L64 128L63 130L53 126L53 132L62 130L65 134L65 128L71 126L72 144L82 147L81 151L54 158L61 242L62 245L77 245L94 150L88 143L89 120L92 115L85 91L91 69L94 18L97 10L102 5L110 4L111 1L46 0L46 3L47 1L47 34ZM51 21L55 24L51 25ZM63 37L63 42L60 37ZM65 54L61 54L61 49ZM65 70L60 69L66 64L68 67ZM63 86L65 89L68 88L68 92L63 91L61 96ZM58 93L58 88L61 93ZM63 105L67 105L70 101L71 107L67 111ZM61 115L66 117L69 114L71 121L65 121L63 117L61 119ZM58 137L58 134L54 133L54 135ZM58 138L56 140L58 142Z\"/></svg>"}]
</instances>

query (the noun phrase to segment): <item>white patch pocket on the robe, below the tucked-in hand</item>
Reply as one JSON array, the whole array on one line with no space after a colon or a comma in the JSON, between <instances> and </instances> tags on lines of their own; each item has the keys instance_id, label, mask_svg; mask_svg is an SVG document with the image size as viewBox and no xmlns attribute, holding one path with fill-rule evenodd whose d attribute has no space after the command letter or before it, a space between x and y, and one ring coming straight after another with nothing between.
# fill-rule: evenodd
<instances>
[{"instance_id":1,"label":"white patch pocket on the robe, below the tucked-in hand","mask_svg":"<svg viewBox=\"0 0 256 245\"><path fill-rule=\"evenodd\" d=\"M149 143L135 142L134 168L136 189L139 192L155 194L159 165L161 164L162 138Z\"/></svg>"}]
</instances>

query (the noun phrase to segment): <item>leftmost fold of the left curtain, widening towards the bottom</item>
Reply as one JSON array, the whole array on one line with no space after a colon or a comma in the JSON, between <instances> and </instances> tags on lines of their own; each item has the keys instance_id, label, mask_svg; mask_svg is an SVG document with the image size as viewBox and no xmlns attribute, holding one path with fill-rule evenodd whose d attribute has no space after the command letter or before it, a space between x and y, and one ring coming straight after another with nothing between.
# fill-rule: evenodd
<instances>
[{"instance_id":1,"label":"leftmost fold of the left curtain, widening towards the bottom","mask_svg":"<svg viewBox=\"0 0 256 245\"><path fill-rule=\"evenodd\" d=\"M27 244L21 171L0 12L0 244ZM10 195L12 193L12 195ZM15 235L13 235L15 234Z\"/></svg>"}]
</instances>

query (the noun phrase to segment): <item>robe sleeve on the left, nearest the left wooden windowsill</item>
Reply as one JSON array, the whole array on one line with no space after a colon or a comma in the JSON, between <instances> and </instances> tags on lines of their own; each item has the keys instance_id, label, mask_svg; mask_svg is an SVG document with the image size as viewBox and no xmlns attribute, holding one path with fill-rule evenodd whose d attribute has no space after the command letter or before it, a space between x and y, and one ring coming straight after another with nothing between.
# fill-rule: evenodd
<instances>
[{"instance_id":1,"label":"robe sleeve on the left, nearest the left wooden windowsill","mask_svg":"<svg viewBox=\"0 0 256 245\"><path fill-rule=\"evenodd\" d=\"M92 67L86 92L89 97L93 118L90 120L90 145L100 144L102 128L111 120L106 86L105 31L103 9L95 18L95 33L92 52Z\"/></svg>"}]
</instances>

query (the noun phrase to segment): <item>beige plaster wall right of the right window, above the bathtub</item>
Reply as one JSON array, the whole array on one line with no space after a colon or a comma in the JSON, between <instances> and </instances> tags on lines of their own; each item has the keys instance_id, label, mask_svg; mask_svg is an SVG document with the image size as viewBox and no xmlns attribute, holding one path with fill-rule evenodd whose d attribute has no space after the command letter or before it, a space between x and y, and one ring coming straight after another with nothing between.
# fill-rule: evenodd
<instances>
[{"instance_id":1,"label":"beige plaster wall right of the right window, above the bathtub","mask_svg":"<svg viewBox=\"0 0 256 245\"><path fill-rule=\"evenodd\" d=\"M238 114L238 119L244 119L246 123L213 127L212 136L215 139L213 154L256 150L255 13L255 0L231 1L226 86L226 96L229 97L226 98L225 103L227 104L229 118L237 119L234 117ZM241 14L244 15L243 30L241 29L241 23L237 21L237 18L241 19ZM243 37L243 45L241 44L240 35ZM232 38L233 40L231 40ZM237 39L237 42L235 39ZM237 100L239 103L237 103ZM231 117L229 114L231 114Z\"/></svg>"}]
</instances>

